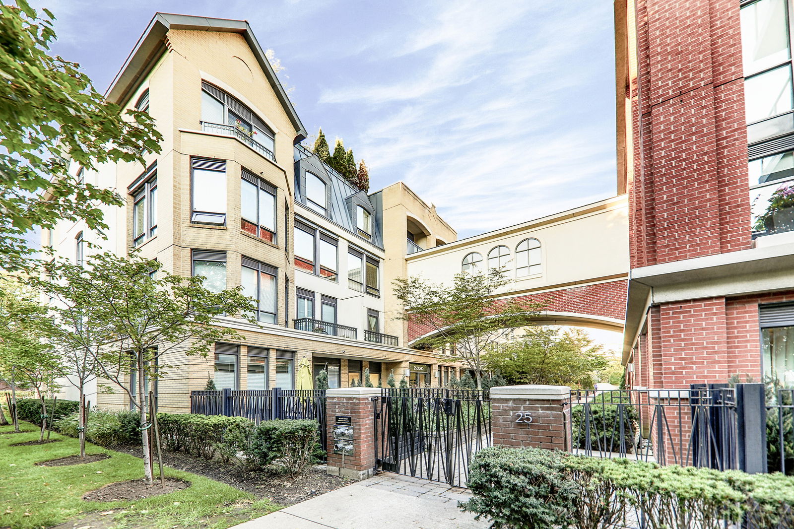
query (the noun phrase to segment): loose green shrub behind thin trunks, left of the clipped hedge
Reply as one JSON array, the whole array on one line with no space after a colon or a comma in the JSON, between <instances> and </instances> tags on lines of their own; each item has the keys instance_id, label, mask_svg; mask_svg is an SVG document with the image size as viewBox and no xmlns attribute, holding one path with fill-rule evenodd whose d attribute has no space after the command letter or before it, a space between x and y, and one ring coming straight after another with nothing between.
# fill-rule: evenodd
<instances>
[{"instance_id":1,"label":"loose green shrub behind thin trunks, left of the clipped hedge","mask_svg":"<svg viewBox=\"0 0 794 529\"><path fill-rule=\"evenodd\" d=\"M79 411L67 415L55 423L61 434L79 437ZM138 427L141 419L135 411L91 410L86 428L87 441L99 446L132 445L141 442Z\"/></svg>"}]
</instances>

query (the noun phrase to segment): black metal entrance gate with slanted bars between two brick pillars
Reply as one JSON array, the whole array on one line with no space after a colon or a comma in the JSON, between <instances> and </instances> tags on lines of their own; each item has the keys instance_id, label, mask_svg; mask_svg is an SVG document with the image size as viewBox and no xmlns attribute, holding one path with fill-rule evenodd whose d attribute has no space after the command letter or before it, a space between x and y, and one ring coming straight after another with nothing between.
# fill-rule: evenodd
<instances>
[{"instance_id":1,"label":"black metal entrance gate with slanted bars between two brick pillars","mask_svg":"<svg viewBox=\"0 0 794 529\"><path fill-rule=\"evenodd\" d=\"M491 446L488 391L386 388L372 401L380 469L464 487L468 462Z\"/></svg>"}]
</instances>

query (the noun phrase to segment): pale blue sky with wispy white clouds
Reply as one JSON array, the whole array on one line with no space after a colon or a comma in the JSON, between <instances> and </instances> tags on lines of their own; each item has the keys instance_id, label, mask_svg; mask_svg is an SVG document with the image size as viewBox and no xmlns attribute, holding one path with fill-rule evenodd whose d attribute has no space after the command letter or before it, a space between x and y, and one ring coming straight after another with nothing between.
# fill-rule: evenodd
<instances>
[{"instance_id":1,"label":"pale blue sky with wispy white clouds","mask_svg":"<svg viewBox=\"0 0 794 529\"><path fill-rule=\"evenodd\" d=\"M249 21L303 125L468 237L615 195L611 2L31 2L105 91L156 11ZM306 141L311 144L314 138Z\"/></svg>"}]
</instances>

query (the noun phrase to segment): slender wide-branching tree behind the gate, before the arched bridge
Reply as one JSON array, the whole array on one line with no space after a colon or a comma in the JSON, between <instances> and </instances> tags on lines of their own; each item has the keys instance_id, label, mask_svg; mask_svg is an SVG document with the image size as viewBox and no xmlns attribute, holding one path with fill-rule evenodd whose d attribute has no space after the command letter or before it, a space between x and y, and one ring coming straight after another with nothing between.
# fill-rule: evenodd
<instances>
[{"instance_id":1,"label":"slender wide-branching tree behind the gate, before the arched bridge","mask_svg":"<svg viewBox=\"0 0 794 529\"><path fill-rule=\"evenodd\" d=\"M474 373L476 388L482 388L483 353L510 338L519 326L531 324L547 303L495 300L510 284L506 272L461 272L453 284L430 283L418 277L394 281L395 295L403 304L399 319L414 322L430 331L418 346L441 349L455 344L455 358Z\"/></svg>"}]
</instances>

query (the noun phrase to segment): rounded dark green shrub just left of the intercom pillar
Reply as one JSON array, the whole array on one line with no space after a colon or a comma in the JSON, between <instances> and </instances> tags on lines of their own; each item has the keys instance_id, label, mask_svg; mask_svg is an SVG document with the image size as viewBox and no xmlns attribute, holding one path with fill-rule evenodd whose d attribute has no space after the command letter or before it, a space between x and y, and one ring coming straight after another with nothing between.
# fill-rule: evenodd
<instances>
[{"instance_id":1,"label":"rounded dark green shrub just left of the intercom pillar","mask_svg":"<svg viewBox=\"0 0 794 529\"><path fill-rule=\"evenodd\" d=\"M255 427L249 439L240 439L249 469L273 469L297 476L317 461L316 420L275 419Z\"/></svg>"}]
</instances>

